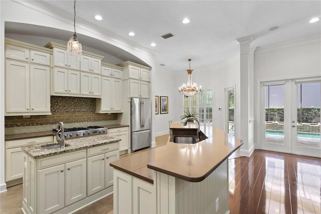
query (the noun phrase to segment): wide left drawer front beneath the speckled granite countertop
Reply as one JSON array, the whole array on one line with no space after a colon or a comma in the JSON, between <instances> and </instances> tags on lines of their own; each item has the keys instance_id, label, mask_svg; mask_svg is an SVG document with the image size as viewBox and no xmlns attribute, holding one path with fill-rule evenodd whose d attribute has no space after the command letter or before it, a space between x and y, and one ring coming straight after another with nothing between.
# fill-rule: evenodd
<instances>
[{"instance_id":1,"label":"wide left drawer front beneath the speckled granite countertop","mask_svg":"<svg viewBox=\"0 0 321 214\"><path fill-rule=\"evenodd\" d=\"M86 157L86 150L82 149L76 152L67 152L61 155L53 155L39 159L38 169L56 166L59 164L79 160Z\"/></svg>"}]
</instances>

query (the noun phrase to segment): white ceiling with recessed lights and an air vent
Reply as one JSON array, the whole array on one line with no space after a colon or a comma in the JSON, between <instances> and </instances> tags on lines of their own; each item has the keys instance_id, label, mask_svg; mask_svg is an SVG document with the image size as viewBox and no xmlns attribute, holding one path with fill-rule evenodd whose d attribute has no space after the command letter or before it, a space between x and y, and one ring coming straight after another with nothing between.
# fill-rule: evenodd
<instances>
[{"instance_id":1,"label":"white ceiling with recessed lights and an air vent","mask_svg":"<svg viewBox=\"0 0 321 214\"><path fill-rule=\"evenodd\" d=\"M57 15L73 19L73 1L43 1L42 4ZM95 20L95 15L103 20ZM193 59L191 68L219 65L239 54L236 39L240 37L252 35L251 47L258 47L321 36L321 22L309 23L313 17L321 17L321 1L76 2L76 30L77 21L84 23L85 20L96 29L119 35L122 42L154 51L156 64L165 64L164 68L172 71L185 71L189 58ZM183 24L184 18L191 22ZM269 31L274 26L278 29ZM130 31L135 36L129 36ZM67 33L71 37L70 32ZM167 33L175 36L163 39L161 36ZM62 39L61 35L63 32L53 31L50 37ZM97 40L90 41L89 45L85 44L89 38L83 35L78 38L83 45L139 63L139 59L121 53L116 47ZM152 42L155 47L150 46Z\"/></svg>"}]
</instances>

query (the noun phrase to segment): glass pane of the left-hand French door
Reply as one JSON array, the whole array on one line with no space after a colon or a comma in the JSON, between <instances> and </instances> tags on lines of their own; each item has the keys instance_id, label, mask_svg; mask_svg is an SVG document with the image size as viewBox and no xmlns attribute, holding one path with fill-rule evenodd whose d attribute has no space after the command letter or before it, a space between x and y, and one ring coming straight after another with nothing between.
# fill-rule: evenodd
<instances>
[{"instance_id":1,"label":"glass pane of the left-hand French door","mask_svg":"<svg viewBox=\"0 0 321 214\"><path fill-rule=\"evenodd\" d=\"M265 86L265 142L284 144L284 85Z\"/></svg>"}]
</instances>

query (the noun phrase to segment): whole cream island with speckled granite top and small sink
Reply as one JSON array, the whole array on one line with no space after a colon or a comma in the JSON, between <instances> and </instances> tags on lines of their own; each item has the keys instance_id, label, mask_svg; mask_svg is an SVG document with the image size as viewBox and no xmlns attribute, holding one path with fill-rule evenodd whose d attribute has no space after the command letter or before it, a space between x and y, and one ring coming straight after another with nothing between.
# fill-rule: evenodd
<instances>
[{"instance_id":1,"label":"whole cream island with speckled granite top and small sink","mask_svg":"<svg viewBox=\"0 0 321 214\"><path fill-rule=\"evenodd\" d=\"M119 139L107 134L23 147L24 213L70 213L112 192L109 163L119 159Z\"/></svg>"}]
</instances>

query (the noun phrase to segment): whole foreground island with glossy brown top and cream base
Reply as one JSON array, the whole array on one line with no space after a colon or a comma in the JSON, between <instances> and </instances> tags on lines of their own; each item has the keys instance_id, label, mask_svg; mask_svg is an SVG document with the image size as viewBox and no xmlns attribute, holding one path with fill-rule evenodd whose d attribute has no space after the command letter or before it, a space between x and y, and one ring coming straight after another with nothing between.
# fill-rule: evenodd
<instances>
[{"instance_id":1,"label":"whole foreground island with glossy brown top and cream base","mask_svg":"<svg viewBox=\"0 0 321 214\"><path fill-rule=\"evenodd\" d=\"M114 213L229 212L228 157L243 141L203 125L207 139L195 144L172 142L173 135L186 135L186 131L196 136L197 128L194 123L172 124L165 146L110 163Z\"/></svg>"}]
</instances>

